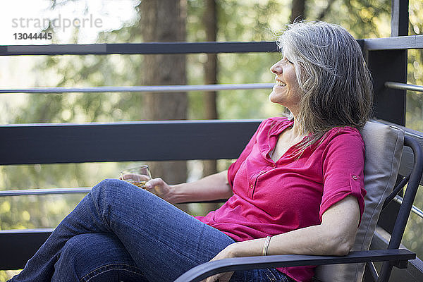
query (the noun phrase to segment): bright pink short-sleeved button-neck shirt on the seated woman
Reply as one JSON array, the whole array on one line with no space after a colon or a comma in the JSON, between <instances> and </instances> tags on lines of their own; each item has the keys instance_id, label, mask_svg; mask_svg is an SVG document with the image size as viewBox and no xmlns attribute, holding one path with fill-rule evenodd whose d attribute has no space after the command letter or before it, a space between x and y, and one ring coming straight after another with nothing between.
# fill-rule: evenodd
<instances>
[{"instance_id":1,"label":"bright pink short-sleeved button-neck shirt on the seated woman","mask_svg":"<svg viewBox=\"0 0 423 282\"><path fill-rule=\"evenodd\" d=\"M364 142L356 128L329 130L323 142L298 159L290 147L274 162L269 153L278 135L293 125L286 118L263 121L235 163L228 168L233 196L197 219L235 241L264 238L321 223L326 209L348 195L364 210ZM307 138L307 137L305 137ZM309 281L313 266L278 269L297 281Z\"/></svg>"}]
</instances>

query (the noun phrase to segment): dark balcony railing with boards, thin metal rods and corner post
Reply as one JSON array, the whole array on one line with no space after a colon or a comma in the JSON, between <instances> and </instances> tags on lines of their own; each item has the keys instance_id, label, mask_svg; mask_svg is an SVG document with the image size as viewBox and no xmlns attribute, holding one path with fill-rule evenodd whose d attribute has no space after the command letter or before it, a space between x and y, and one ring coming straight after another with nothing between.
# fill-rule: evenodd
<instances>
[{"instance_id":1,"label":"dark balcony railing with boards, thin metal rods and corner post","mask_svg":"<svg viewBox=\"0 0 423 282\"><path fill-rule=\"evenodd\" d=\"M399 1L396 1L399 3ZM398 16L398 15L397 15ZM400 16L399 21L403 22ZM405 95L407 90L422 91L419 85L407 85L407 49L423 49L423 35L358 40L367 58L374 78L374 118L394 123L415 137L423 146L423 133L405 128ZM63 44L38 46L0 46L0 56L20 55L107 55L107 54L190 54L190 53L242 53L278 51L275 42L200 42L200 43L140 43L140 44ZM248 85L173 85L135 87L49 87L4 89L1 93L67 93L67 92L181 92L221 91L270 88L266 83ZM231 159L238 157L259 121L156 121L90 124L19 124L0 125L0 165L51 164L85 161L134 161L173 159ZM183 132L195 132L187 142ZM225 138L216 137L214 132ZM146 140L142 133L156 136ZM129 134L130 133L130 134ZM135 133L135 134L134 134ZM89 134L89 140L81 137ZM33 137L37 136L37 140ZM116 137L118 136L118 137ZM173 148L163 150L172 138ZM32 139L30 139L32 138ZM31 140L31 146L28 146ZM189 145L188 145L189 144ZM119 146L116 146L119 145ZM148 152L128 152L133 145L148 145ZM204 149L207 148L207 149ZM405 151L400 175L407 175L412 164L411 152ZM421 180L420 183L423 184ZM46 195L85 193L90 188L54 188L0 191L0 197L18 195ZM396 197L396 202L400 202ZM396 214L396 202L381 214L379 226L392 231L390 219ZM419 207L415 214L422 216ZM11 254L8 248L20 245L22 252L12 257L0 257L0 269L21 267L25 258L36 250L51 230L0 231L2 254ZM34 242L35 246L34 246ZM15 245L13 245L15 244ZM383 245L384 238L377 235L374 245ZM423 262L415 259L409 264L415 277L423 277ZM405 277L404 272L400 275ZM417 276L416 276L417 275ZM395 273L394 273L395 276ZM411 278L410 278L411 279ZM423 278L422 278L423 279ZM399 280L398 280L399 281ZM412 281L405 279L404 281ZM423 280L422 280L423 281Z\"/></svg>"}]
</instances>

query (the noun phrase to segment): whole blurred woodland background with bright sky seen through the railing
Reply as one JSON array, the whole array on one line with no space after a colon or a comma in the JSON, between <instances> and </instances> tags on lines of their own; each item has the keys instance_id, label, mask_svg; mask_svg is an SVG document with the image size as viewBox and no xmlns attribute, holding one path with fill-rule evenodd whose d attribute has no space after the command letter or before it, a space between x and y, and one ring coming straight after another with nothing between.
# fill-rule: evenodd
<instances>
[{"instance_id":1,"label":"whole blurred woodland background with bright sky seen through the railing","mask_svg":"<svg viewBox=\"0 0 423 282\"><path fill-rule=\"evenodd\" d=\"M410 0L409 35L422 34L423 2ZM391 35L391 0L4 0L0 45L274 41L295 19L343 25L357 39ZM54 21L56 19L56 21ZM66 19L86 25L66 25ZM97 22L96 22L97 20ZM78 23L80 23L78 22ZM16 39L47 32L51 39ZM423 85L422 50L408 51L407 82ZM281 54L2 56L0 88L273 82ZM91 123L278 116L269 90L189 93L0 94L0 123ZM423 131L423 99L407 92L406 126ZM216 133L219 134L219 133ZM148 137L148 136L146 136ZM169 142L171 146L171 141ZM192 181L233 160L149 162L152 176ZM145 162L0 166L0 190L90 187ZM84 195L0 197L0 229L54 228ZM423 207L422 189L415 201ZM205 214L216 204L185 204ZM423 257L423 220L410 216L403 244ZM7 254L1 254L7 255ZM17 271L0 271L6 281Z\"/></svg>"}]
</instances>

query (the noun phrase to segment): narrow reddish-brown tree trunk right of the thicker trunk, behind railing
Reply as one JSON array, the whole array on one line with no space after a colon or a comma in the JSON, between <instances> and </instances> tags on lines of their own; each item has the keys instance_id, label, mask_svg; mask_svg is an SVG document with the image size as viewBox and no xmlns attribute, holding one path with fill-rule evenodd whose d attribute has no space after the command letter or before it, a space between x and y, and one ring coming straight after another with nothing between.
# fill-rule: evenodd
<instances>
[{"instance_id":1,"label":"narrow reddish-brown tree trunk right of the thicker trunk, behind railing","mask_svg":"<svg viewBox=\"0 0 423 282\"><path fill-rule=\"evenodd\" d=\"M206 9L204 10L203 25L206 32L206 41L215 42L217 35L217 13L216 1L204 1ZM217 54L207 54L207 61L204 63L204 84L217 83ZM204 92L204 118L217 119L217 106L216 106L217 92ZM209 176L216 173L216 160L203 161L203 176ZM217 204L203 204L204 212L207 213L218 207Z\"/></svg>"}]
</instances>

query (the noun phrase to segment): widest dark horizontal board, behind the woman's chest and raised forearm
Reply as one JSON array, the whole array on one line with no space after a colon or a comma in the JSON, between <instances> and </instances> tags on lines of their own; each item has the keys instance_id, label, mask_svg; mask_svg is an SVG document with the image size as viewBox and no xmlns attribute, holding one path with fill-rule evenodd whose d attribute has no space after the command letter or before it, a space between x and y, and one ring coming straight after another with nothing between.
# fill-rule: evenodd
<instances>
[{"instance_id":1,"label":"widest dark horizontal board, behind the woman's chest and raised forearm","mask_svg":"<svg viewBox=\"0 0 423 282\"><path fill-rule=\"evenodd\" d=\"M0 164L236 159L255 121L0 126Z\"/></svg>"}]
</instances>

